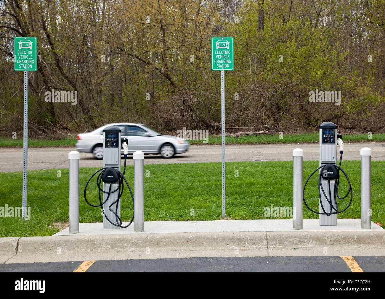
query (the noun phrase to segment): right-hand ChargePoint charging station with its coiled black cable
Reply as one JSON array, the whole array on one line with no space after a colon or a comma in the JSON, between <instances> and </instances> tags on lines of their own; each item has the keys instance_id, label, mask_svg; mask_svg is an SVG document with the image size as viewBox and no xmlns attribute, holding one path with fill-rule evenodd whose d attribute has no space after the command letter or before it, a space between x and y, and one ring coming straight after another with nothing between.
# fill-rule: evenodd
<instances>
[{"instance_id":1,"label":"right-hand ChargePoint charging station with its coiled black cable","mask_svg":"<svg viewBox=\"0 0 385 299\"><path fill-rule=\"evenodd\" d=\"M340 146L340 164L337 166L337 145ZM313 213L320 215L320 225L337 225L337 214L349 208L353 199L352 186L345 171L341 168L343 154L342 135L337 134L337 126L331 122L321 123L320 125L320 167L310 174L303 186L303 202ZM318 194L319 212L311 209L305 200L305 188L311 176L319 170L318 175ZM345 196L338 195L340 183L340 171L345 175L348 182L348 192ZM350 201L346 208L339 210L338 199L345 199L350 193Z\"/></svg>"}]
</instances>

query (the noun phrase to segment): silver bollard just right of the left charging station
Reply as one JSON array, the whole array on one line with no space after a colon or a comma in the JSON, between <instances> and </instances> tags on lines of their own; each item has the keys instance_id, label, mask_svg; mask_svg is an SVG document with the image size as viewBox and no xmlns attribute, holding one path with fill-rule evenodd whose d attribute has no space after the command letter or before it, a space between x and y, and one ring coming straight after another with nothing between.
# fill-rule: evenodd
<instances>
[{"instance_id":1,"label":"silver bollard just right of the left charging station","mask_svg":"<svg viewBox=\"0 0 385 299\"><path fill-rule=\"evenodd\" d=\"M134 231L144 231L144 153L134 153Z\"/></svg>"}]
</instances>

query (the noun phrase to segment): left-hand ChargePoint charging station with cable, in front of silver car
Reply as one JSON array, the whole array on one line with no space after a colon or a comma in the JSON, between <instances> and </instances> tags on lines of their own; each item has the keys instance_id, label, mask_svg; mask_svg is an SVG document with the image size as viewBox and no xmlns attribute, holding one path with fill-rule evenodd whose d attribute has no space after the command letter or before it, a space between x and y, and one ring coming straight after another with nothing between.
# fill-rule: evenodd
<instances>
[{"instance_id":1,"label":"left-hand ChargePoint charging station with cable, in front of silver car","mask_svg":"<svg viewBox=\"0 0 385 299\"><path fill-rule=\"evenodd\" d=\"M103 130L103 168L95 171L89 178L84 188L84 199L92 207L100 207L103 215L104 229L127 228L134 219L132 213L131 222L127 226L122 226L121 220L121 197L124 191L124 183L126 183L134 205L134 196L131 188L127 183L124 173L126 172L127 159L127 138L121 138L121 130L117 126L109 126ZM124 170L121 173L121 147L124 150ZM99 204L90 204L87 200L86 190L90 180L97 174L96 184L99 191ZM103 182L103 186L101 186ZM103 195L101 195L103 194Z\"/></svg>"}]
</instances>

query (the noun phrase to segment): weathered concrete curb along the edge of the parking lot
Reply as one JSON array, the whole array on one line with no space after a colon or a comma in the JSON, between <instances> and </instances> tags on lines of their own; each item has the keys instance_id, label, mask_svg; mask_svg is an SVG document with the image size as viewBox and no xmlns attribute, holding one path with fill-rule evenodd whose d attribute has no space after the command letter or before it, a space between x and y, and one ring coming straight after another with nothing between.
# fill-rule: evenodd
<instances>
[{"instance_id":1,"label":"weathered concrete curb along the edge of the parking lot","mask_svg":"<svg viewBox=\"0 0 385 299\"><path fill-rule=\"evenodd\" d=\"M219 256L383 256L385 232L223 232L3 238L1 262ZM18 247L15 247L15 243ZM1 242L1 241L0 241ZM2 243L0 243L2 244ZM17 248L17 254L15 250ZM9 256L12 257L9 259Z\"/></svg>"}]
</instances>

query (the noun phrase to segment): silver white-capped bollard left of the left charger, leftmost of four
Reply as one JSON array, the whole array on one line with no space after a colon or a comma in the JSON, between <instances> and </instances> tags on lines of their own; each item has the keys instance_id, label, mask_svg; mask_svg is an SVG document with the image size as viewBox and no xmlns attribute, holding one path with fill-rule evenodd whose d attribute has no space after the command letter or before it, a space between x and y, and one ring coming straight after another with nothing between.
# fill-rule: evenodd
<instances>
[{"instance_id":1,"label":"silver white-capped bollard left of the left charger, leftmost of four","mask_svg":"<svg viewBox=\"0 0 385 299\"><path fill-rule=\"evenodd\" d=\"M69 216L70 234L79 233L79 152L71 151L69 159Z\"/></svg>"}]
</instances>

